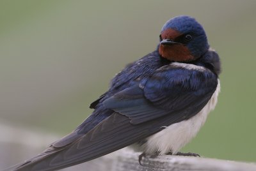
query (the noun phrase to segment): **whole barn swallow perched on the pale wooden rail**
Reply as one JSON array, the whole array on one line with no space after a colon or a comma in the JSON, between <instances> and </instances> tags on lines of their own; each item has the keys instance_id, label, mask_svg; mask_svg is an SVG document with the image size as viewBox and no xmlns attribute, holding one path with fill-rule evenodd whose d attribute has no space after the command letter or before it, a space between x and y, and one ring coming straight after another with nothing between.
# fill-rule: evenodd
<instances>
[{"instance_id":1,"label":"whole barn swallow perched on the pale wooden rail","mask_svg":"<svg viewBox=\"0 0 256 171\"><path fill-rule=\"evenodd\" d=\"M127 65L92 114L67 136L13 170L58 170L130 146L142 154L182 154L216 106L220 58L192 17L168 20L156 50Z\"/></svg>"}]
</instances>

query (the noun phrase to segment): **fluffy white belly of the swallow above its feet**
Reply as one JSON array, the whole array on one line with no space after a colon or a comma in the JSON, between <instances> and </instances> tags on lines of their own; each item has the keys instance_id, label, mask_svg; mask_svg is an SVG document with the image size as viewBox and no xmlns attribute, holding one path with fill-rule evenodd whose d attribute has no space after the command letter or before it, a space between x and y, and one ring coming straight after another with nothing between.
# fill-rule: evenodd
<instances>
[{"instance_id":1,"label":"fluffy white belly of the swallow above its feet","mask_svg":"<svg viewBox=\"0 0 256 171\"><path fill-rule=\"evenodd\" d=\"M146 139L147 142L140 146L140 151L144 151L146 154L156 154L156 152L158 154L166 154L170 151L176 154L179 152L184 145L188 144L196 136L196 133L204 125L207 115L216 106L219 93L220 80L218 80L216 91L212 94L211 99L198 114L186 121L166 126L164 130L148 137ZM132 145L132 147L134 148L135 146ZM137 147L135 148L136 151L139 150Z\"/></svg>"}]
</instances>

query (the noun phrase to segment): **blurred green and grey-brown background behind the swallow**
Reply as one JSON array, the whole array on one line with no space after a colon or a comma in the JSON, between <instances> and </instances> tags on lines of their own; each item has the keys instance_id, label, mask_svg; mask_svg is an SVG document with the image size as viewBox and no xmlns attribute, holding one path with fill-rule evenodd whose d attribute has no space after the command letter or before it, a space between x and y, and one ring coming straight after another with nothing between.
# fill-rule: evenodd
<instances>
[{"instance_id":1,"label":"blurred green and grey-brown background behind the swallow","mask_svg":"<svg viewBox=\"0 0 256 171\"><path fill-rule=\"evenodd\" d=\"M182 151L256 161L255 11L253 0L1 1L0 119L69 133L115 73L156 48L166 20L191 15L223 72L216 110Z\"/></svg>"}]
</instances>

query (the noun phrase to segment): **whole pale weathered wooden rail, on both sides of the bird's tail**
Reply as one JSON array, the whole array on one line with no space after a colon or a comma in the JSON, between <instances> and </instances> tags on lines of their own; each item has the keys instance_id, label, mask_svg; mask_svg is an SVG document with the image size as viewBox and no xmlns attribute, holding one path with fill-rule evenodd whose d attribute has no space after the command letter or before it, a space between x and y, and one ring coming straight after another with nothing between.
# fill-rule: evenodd
<instances>
[{"instance_id":1,"label":"whole pale weathered wooden rail, on both sides of the bird's tail","mask_svg":"<svg viewBox=\"0 0 256 171\"><path fill-rule=\"evenodd\" d=\"M58 139L56 136L33 133L15 126L0 123L0 170L26 160L42 151L47 144ZM195 158L184 156L146 156L138 163L138 155L128 148L113 152L65 171L256 171L255 163Z\"/></svg>"}]
</instances>

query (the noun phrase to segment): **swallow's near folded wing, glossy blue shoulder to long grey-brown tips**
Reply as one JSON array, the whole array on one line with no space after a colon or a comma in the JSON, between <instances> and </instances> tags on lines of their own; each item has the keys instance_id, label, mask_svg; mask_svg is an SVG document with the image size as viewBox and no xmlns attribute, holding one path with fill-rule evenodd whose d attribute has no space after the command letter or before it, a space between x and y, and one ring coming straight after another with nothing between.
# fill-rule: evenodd
<instances>
[{"instance_id":1,"label":"swallow's near folded wing, glossy blue shoulder to long grey-brown tips","mask_svg":"<svg viewBox=\"0 0 256 171\"><path fill-rule=\"evenodd\" d=\"M209 70L170 64L103 102L113 114L81 137L69 135L16 170L56 170L93 160L197 114L217 86ZM83 126L86 126L84 124ZM81 128L83 129L83 128Z\"/></svg>"}]
</instances>

